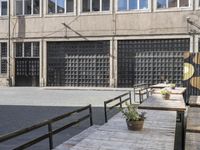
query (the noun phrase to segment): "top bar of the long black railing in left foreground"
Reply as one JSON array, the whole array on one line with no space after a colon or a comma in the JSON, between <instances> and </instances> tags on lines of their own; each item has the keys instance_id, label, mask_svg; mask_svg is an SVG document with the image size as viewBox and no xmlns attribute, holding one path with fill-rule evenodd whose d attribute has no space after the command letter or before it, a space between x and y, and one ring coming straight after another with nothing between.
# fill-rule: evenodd
<instances>
[{"instance_id":1,"label":"top bar of the long black railing in left foreground","mask_svg":"<svg viewBox=\"0 0 200 150\"><path fill-rule=\"evenodd\" d=\"M31 127L20 129L20 130L14 131L14 132L6 134L6 135L2 135L2 136L0 136L0 142L7 141L7 140L12 139L14 137L17 137L19 135L22 135L22 134L28 133L30 131L36 130L38 128L44 127L49 123L53 123L53 122L56 122L56 121L61 120L63 118L69 117L70 115L72 115L74 113L78 113L78 112L84 111L84 110L86 110L86 109L88 109L90 107L91 107L91 105L88 105L88 106L85 106L85 107L80 108L78 110L74 110L72 112L60 115L58 117L46 120L46 121L38 123L38 124L35 124L35 125L31 126Z\"/></svg>"}]
</instances>

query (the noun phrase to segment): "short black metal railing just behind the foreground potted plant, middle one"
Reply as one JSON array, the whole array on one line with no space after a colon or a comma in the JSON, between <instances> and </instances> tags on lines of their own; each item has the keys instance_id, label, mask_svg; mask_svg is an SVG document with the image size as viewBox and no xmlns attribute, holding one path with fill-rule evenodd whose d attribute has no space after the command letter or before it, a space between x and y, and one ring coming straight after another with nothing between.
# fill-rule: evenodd
<instances>
[{"instance_id":1,"label":"short black metal railing just behind the foreground potted plant, middle one","mask_svg":"<svg viewBox=\"0 0 200 150\"><path fill-rule=\"evenodd\" d=\"M127 97L128 96L128 97ZM108 122L108 112L111 111L113 108L120 106L120 108L122 108L122 104L125 103L126 101L130 101L130 104L132 103L131 101L131 91L129 91L128 93L122 94L120 96L117 96L113 99L104 101L104 115L105 115L105 122ZM109 103L112 103L114 101L119 101L118 103L108 107Z\"/></svg>"}]
</instances>

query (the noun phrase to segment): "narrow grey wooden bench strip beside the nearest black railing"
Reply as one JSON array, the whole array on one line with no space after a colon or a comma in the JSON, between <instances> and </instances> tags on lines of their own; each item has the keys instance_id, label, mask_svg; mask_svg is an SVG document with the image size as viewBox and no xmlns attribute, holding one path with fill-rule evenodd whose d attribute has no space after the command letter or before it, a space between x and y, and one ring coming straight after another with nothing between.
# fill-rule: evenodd
<instances>
[{"instance_id":1,"label":"narrow grey wooden bench strip beside the nearest black railing","mask_svg":"<svg viewBox=\"0 0 200 150\"><path fill-rule=\"evenodd\" d=\"M81 133L73 136L63 144L58 145L54 150L70 150L72 147L77 145L79 142L81 142L83 139L87 138L90 134L96 132L100 126L93 125Z\"/></svg>"}]
</instances>

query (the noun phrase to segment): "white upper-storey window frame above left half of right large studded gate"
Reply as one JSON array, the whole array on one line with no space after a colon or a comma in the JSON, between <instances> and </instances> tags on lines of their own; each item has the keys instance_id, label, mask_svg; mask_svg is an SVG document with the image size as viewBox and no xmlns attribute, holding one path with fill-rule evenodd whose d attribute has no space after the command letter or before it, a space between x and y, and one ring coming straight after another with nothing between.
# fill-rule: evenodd
<instances>
[{"instance_id":1,"label":"white upper-storey window frame above left half of right large studded gate","mask_svg":"<svg viewBox=\"0 0 200 150\"><path fill-rule=\"evenodd\" d=\"M130 8L130 0L126 0L127 1L126 10L118 9L118 1L119 0L116 0L116 9L115 9L116 13L151 12L151 0L147 0L148 1L147 9L140 9L140 0L137 0L137 9L129 9Z\"/></svg>"}]
</instances>

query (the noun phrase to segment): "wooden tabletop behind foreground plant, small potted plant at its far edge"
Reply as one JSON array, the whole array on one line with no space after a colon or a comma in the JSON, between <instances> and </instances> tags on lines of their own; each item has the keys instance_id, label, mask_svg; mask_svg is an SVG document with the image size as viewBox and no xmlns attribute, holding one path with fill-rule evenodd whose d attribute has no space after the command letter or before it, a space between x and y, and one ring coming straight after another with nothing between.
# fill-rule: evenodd
<instances>
[{"instance_id":1,"label":"wooden tabletop behind foreground plant, small potted plant at its far edge","mask_svg":"<svg viewBox=\"0 0 200 150\"><path fill-rule=\"evenodd\" d=\"M168 111L186 110L183 96L179 94L171 94L169 100L164 100L161 94L153 94L140 104L138 108Z\"/></svg>"}]
</instances>

